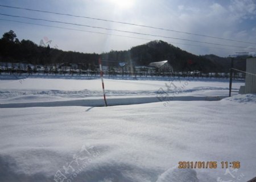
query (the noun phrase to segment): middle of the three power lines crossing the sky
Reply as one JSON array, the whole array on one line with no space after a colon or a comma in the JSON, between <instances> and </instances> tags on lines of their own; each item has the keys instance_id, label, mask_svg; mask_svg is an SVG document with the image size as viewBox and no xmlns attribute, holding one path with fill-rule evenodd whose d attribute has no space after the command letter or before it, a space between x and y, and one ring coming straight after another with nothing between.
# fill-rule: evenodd
<instances>
[{"instance_id":1,"label":"middle of the three power lines crossing the sky","mask_svg":"<svg viewBox=\"0 0 256 182\"><path fill-rule=\"evenodd\" d=\"M154 37L167 38L167 39L185 40L185 41L189 41L189 42L198 42L198 43L205 43L205 44L213 44L213 45L217 45L217 46L228 46L228 47L236 47L236 48L256 49L256 48L250 48L250 47L231 46L231 45L226 45L226 44L201 42L201 41L198 41L198 40L189 40L189 39L181 39L181 38L172 38L172 37L170 37L170 36L162 36L162 35L154 35L154 34L144 34L144 33L139 33L139 32L132 32L132 31L123 31L123 30L117 30L117 29L113 29L113 28L89 26L89 25L86 25L86 24L61 22L61 21L57 21L57 20L47 20L47 19L41 19L41 18L31 18L31 17L27 17L27 16L9 15L9 14L2 14L2 13L0 13L0 15L3 15L3 16L11 16L11 17L15 17L15 18L26 18L26 19L32 19L32 20L43 20L43 21L46 21L46 22L63 23L63 24L72 24L72 25L76 25L76 26L84 26L84 27L90 27L90 28L98 28L98 29L103 29L103 30L112 30L112 31L125 32L125 33L130 33L130 34L147 35L147 36L154 36Z\"/></svg>"}]
</instances>

